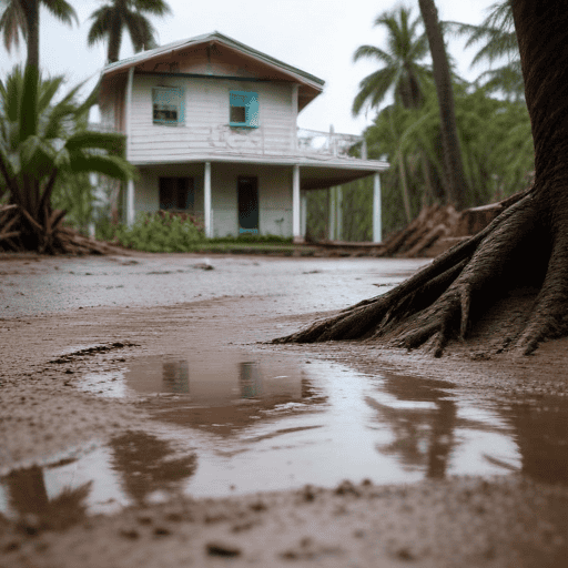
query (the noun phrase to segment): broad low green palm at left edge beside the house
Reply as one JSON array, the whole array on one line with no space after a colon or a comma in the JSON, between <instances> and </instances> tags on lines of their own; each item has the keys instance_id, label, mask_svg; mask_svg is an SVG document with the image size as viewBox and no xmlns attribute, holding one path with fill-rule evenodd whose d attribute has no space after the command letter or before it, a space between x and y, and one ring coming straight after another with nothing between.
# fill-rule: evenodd
<instances>
[{"instance_id":1,"label":"broad low green palm at left edge beside the house","mask_svg":"<svg viewBox=\"0 0 568 568\"><path fill-rule=\"evenodd\" d=\"M58 230L64 211L53 211L51 196L61 175L98 172L128 180L134 169L123 158L124 136L85 130L81 123L94 95L80 104L72 89L54 102L63 77L39 80L16 67L0 81L0 199L11 205L2 212L0 241L20 247L52 252L62 248ZM33 100L27 95L37 92ZM94 92L94 91L93 91ZM32 118L30 118L32 115ZM16 241L13 241L16 242Z\"/></svg>"}]
</instances>

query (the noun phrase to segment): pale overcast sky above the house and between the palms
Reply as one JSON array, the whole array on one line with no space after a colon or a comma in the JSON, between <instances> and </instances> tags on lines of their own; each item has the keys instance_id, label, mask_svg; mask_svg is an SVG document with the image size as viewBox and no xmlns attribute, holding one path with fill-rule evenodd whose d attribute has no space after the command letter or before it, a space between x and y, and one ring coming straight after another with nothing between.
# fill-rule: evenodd
<instances>
[{"instance_id":1,"label":"pale overcast sky above the house and between the palms","mask_svg":"<svg viewBox=\"0 0 568 568\"><path fill-rule=\"evenodd\" d=\"M439 18L480 23L495 0L436 0ZM69 84L97 78L106 47L87 48L89 17L103 0L70 0L80 27L69 28L41 10L40 59L49 74L64 73ZM359 81L376 69L367 61L353 63L358 45L384 47L384 32L373 28L376 16L400 2L392 0L212 0L207 2L169 0L173 16L153 20L161 44L219 31L251 48L312 73L325 81L324 92L298 116L298 125L359 134L374 113L354 119L351 113ZM417 0L407 0L418 13ZM23 61L24 48L12 54L0 47L0 75ZM464 51L463 41L450 40L450 53L458 72L475 79L483 69L469 68L475 51ZM123 37L121 58L132 54L129 37ZM91 79L89 85L94 85Z\"/></svg>"}]
</instances>

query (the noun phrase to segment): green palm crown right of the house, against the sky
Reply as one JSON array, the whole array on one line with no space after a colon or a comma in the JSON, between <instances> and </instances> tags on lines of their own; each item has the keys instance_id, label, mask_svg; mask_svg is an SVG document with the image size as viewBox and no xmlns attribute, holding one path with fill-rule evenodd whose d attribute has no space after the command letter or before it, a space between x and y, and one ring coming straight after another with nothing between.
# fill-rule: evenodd
<instances>
[{"instance_id":1,"label":"green palm crown right of the house, against the sky","mask_svg":"<svg viewBox=\"0 0 568 568\"><path fill-rule=\"evenodd\" d=\"M353 60L373 59L383 67L361 81L359 92L353 101L353 114L357 115L367 102L371 108L378 106L393 89L395 100L405 108L420 106L422 84L430 77L428 68L420 63L428 54L426 37L418 36L420 17L413 20L412 9L400 7L379 14L374 26L385 27L388 31L386 50L361 45Z\"/></svg>"}]
</instances>

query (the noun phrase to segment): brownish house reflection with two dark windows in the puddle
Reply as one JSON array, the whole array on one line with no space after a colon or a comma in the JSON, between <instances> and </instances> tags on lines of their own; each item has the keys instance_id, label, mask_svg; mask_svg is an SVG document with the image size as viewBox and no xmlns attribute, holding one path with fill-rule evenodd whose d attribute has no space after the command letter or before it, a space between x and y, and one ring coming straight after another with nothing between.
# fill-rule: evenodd
<instances>
[{"instance_id":1,"label":"brownish house reflection with two dark windows in the puddle","mask_svg":"<svg viewBox=\"0 0 568 568\"><path fill-rule=\"evenodd\" d=\"M274 412L293 415L326 399L293 359L254 361L240 352L207 352L189 361L140 358L124 374L124 385L143 396L142 405L160 422L220 436L272 422Z\"/></svg>"}]
</instances>

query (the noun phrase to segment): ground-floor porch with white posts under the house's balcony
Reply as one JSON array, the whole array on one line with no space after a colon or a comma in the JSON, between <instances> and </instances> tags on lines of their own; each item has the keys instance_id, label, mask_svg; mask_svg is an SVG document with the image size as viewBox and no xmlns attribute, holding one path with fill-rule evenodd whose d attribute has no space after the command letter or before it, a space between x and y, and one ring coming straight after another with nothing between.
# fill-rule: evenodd
<instances>
[{"instance_id":1,"label":"ground-floor porch with white posts under the house's balcony","mask_svg":"<svg viewBox=\"0 0 568 568\"><path fill-rule=\"evenodd\" d=\"M337 160L250 161L243 156L214 162L139 164L141 179L128 184L124 221L132 224L139 212L181 209L203 219L207 237L248 232L292 236L294 242L303 242L307 191L373 175L373 235L375 242L381 242L379 171L387 165L358 162L347 166ZM176 189L169 190L168 184ZM185 193L166 197L172 191ZM171 200L171 204L163 200Z\"/></svg>"}]
</instances>

